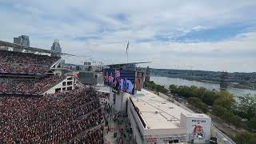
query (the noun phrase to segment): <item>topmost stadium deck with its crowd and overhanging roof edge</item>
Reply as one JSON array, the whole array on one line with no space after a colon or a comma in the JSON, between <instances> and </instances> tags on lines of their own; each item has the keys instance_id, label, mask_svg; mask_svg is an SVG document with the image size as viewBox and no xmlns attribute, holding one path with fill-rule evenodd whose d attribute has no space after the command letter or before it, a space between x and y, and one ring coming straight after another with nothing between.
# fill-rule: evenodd
<instances>
[{"instance_id":1,"label":"topmost stadium deck with its crowd and overhanging roof edge","mask_svg":"<svg viewBox=\"0 0 256 144\"><path fill-rule=\"evenodd\" d=\"M0 73L44 74L63 53L0 41Z\"/></svg>"}]
</instances>

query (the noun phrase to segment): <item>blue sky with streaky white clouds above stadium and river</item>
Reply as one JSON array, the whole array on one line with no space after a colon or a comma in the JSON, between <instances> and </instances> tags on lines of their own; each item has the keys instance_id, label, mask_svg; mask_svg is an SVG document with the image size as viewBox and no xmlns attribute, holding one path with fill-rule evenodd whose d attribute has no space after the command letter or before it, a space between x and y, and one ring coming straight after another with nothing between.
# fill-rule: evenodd
<instances>
[{"instance_id":1,"label":"blue sky with streaky white clouds above stadium and river","mask_svg":"<svg viewBox=\"0 0 256 144\"><path fill-rule=\"evenodd\" d=\"M129 59L154 68L256 71L256 1L0 0L0 39L27 34L30 45L106 64Z\"/></svg>"}]
</instances>

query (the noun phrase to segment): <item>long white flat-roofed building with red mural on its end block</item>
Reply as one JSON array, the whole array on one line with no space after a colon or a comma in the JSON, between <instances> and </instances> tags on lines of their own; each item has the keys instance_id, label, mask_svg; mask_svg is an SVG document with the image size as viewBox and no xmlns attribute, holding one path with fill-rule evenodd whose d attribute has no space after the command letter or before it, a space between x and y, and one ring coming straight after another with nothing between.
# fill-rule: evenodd
<instances>
[{"instance_id":1,"label":"long white flat-roofed building with red mural on its end block","mask_svg":"<svg viewBox=\"0 0 256 144\"><path fill-rule=\"evenodd\" d=\"M127 113L134 140L139 144L205 143L210 140L211 119L208 116L193 114L147 90L137 91L128 98Z\"/></svg>"}]
</instances>

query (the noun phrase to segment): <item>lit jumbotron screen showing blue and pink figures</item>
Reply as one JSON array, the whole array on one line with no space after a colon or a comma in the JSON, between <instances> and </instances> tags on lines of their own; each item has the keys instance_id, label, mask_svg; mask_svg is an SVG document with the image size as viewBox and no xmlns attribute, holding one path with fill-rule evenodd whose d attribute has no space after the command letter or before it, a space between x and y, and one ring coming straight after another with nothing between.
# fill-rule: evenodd
<instances>
[{"instance_id":1,"label":"lit jumbotron screen showing blue and pink figures","mask_svg":"<svg viewBox=\"0 0 256 144\"><path fill-rule=\"evenodd\" d=\"M114 92L122 90L134 94L135 72L130 70L104 70L104 84L111 86Z\"/></svg>"}]
</instances>

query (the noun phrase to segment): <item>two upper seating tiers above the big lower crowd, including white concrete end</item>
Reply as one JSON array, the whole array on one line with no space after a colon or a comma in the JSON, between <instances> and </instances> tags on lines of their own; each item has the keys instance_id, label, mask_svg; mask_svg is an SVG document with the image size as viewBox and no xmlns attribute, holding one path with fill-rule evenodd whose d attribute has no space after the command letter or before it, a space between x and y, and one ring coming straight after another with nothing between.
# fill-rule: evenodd
<instances>
[{"instance_id":1,"label":"two upper seating tiers above the big lower crowd, including white concrete end","mask_svg":"<svg viewBox=\"0 0 256 144\"><path fill-rule=\"evenodd\" d=\"M0 94L41 95L48 90L50 93L73 90L74 78L70 80L52 70L60 66L61 55L0 41Z\"/></svg>"}]
</instances>

